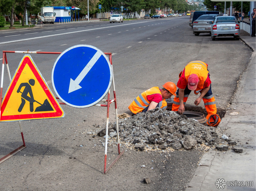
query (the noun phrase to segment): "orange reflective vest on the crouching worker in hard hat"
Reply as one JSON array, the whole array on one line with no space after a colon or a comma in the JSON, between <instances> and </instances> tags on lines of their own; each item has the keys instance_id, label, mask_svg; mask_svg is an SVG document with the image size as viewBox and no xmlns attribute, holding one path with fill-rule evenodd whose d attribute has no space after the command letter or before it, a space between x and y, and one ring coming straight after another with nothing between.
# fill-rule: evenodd
<instances>
[{"instance_id":1,"label":"orange reflective vest on the crouching worker in hard hat","mask_svg":"<svg viewBox=\"0 0 256 191\"><path fill-rule=\"evenodd\" d=\"M147 96L152 94L162 95L161 91L159 90L159 87L152 87L146 90L145 92L141 93L138 97L136 97L136 99L134 99L132 103L129 105L129 110L134 114L141 112L143 109L150 105ZM159 107L164 109L167 108L167 103L165 99L159 102Z\"/></svg>"}]
</instances>

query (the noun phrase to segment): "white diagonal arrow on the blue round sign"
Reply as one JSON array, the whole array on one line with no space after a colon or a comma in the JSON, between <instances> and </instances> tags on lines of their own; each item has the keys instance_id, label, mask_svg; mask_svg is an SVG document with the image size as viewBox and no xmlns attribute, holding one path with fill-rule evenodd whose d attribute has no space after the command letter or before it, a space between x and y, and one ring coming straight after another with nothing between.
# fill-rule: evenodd
<instances>
[{"instance_id":1,"label":"white diagonal arrow on the blue round sign","mask_svg":"<svg viewBox=\"0 0 256 191\"><path fill-rule=\"evenodd\" d=\"M75 80L72 80L70 78L70 83L69 83L69 89L68 89L68 93L71 93L73 91L79 90L80 88L82 88L79 84L80 82L84 79L84 77L86 76L86 74L92 69L92 67L94 66L94 64L97 62L97 60L101 57L101 52L97 51L94 56L92 57L92 59L89 61L89 63L84 67L84 69L80 72L80 74L78 75L78 77Z\"/></svg>"}]
</instances>

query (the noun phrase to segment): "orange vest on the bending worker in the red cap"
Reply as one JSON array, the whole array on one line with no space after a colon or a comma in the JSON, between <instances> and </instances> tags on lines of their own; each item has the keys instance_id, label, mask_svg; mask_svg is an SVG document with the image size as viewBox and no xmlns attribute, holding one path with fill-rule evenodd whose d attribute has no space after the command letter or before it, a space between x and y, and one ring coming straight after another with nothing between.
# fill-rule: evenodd
<instances>
[{"instance_id":1,"label":"orange vest on the bending worker in the red cap","mask_svg":"<svg viewBox=\"0 0 256 191\"><path fill-rule=\"evenodd\" d=\"M196 91L200 91L203 89L203 85L205 84L205 81L208 77L209 71L207 70L207 64L199 60L188 63L187 66L185 66L185 78L187 82L188 77L193 73L197 74L199 78Z\"/></svg>"}]
</instances>

